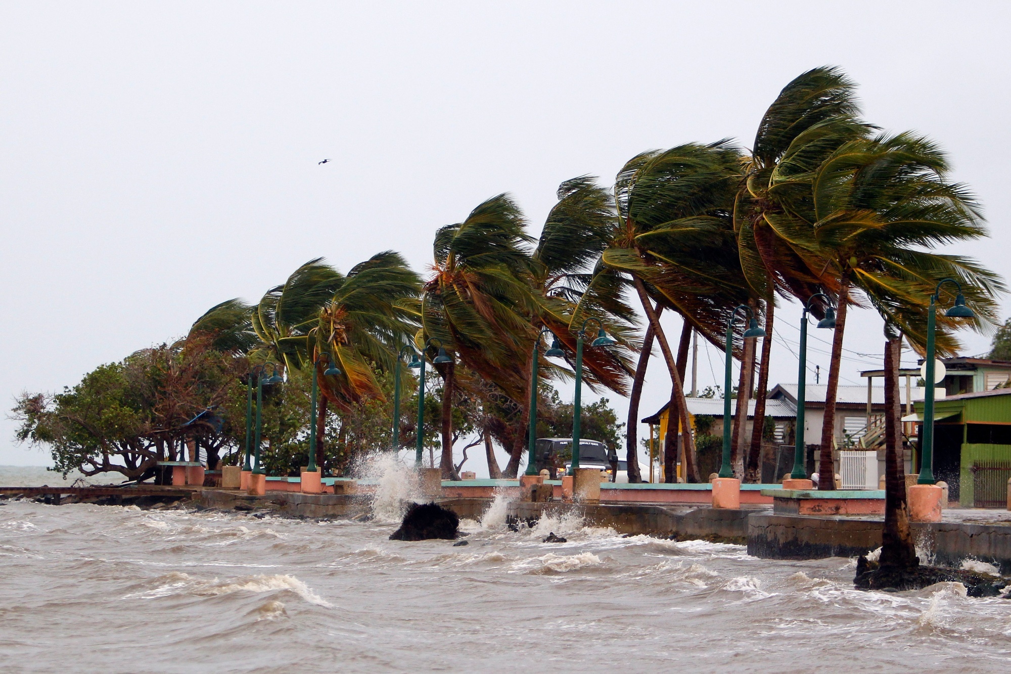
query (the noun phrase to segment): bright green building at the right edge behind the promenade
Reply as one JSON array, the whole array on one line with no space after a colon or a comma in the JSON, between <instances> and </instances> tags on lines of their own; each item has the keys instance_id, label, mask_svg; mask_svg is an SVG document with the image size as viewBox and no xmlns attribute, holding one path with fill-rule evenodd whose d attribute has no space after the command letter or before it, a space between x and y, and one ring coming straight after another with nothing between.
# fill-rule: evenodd
<instances>
[{"instance_id":1,"label":"bright green building at the right edge behind the promenade","mask_svg":"<svg viewBox=\"0 0 1011 674\"><path fill-rule=\"evenodd\" d=\"M923 402L914 418L923 419ZM917 424L922 433L922 423ZM918 444L918 443L917 443ZM914 466L920 470L919 452ZM1011 389L940 398L934 402L934 476L963 507L1007 507L1011 478Z\"/></svg>"}]
</instances>

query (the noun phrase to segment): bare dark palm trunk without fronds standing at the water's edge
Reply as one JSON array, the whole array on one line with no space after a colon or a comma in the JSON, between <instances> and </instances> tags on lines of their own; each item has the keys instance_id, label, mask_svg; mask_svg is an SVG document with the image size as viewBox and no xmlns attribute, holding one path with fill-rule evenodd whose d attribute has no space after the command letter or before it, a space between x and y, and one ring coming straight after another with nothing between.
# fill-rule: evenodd
<instances>
[{"instance_id":1,"label":"bare dark palm trunk without fronds standing at the water's edge","mask_svg":"<svg viewBox=\"0 0 1011 674\"><path fill-rule=\"evenodd\" d=\"M899 398L899 361L902 336L885 342L885 529L882 531L883 567L917 565L913 532L906 505L906 475L902 461L902 404Z\"/></svg>"}]
</instances>

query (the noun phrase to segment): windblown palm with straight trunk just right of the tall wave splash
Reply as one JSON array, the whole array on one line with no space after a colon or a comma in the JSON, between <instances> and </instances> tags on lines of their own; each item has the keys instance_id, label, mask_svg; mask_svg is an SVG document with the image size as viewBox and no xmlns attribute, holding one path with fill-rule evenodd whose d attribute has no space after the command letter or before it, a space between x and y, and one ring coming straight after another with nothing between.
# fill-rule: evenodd
<instances>
[{"instance_id":1,"label":"windblown palm with straight trunk just right of the tall wave splash","mask_svg":"<svg viewBox=\"0 0 1011 674\"><path fill-rule=\"evenodd\" d=\"M514 401L525 397L527 376L517 367L533 347L529 317L534 298L529 282L532 242L513 199L499 194L474 208L462 223L436 233L433 274L422 296L422 329L416 343L434 339L478 376L495 384ZM438 364L443 400L453 399L454 363ZM455 473L451 406L443 406L444 478ZM505 468L516 477L519 458Z\"/></svg>"}]
</instances>

